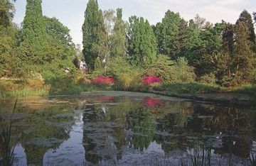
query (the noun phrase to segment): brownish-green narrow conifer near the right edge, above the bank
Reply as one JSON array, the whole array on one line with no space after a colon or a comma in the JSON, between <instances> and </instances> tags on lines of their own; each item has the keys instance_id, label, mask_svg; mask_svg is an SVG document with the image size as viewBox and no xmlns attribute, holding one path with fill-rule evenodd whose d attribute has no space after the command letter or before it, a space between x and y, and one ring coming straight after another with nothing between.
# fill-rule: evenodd
<instances>
[{"instance_id":1,"label":"brownish-green narrow conifer near the right edge, above the bank","mask_svg":"<svg viewBox=\"0 0 256 166\"><path fill-rule=\"evenodd\" d=\"M252 50L248 39L250 28L244 21L238 21L235 26L235 53L233 57L233 73L237 84L250 82L252 72Z\"/></svg>"}]
</instances>

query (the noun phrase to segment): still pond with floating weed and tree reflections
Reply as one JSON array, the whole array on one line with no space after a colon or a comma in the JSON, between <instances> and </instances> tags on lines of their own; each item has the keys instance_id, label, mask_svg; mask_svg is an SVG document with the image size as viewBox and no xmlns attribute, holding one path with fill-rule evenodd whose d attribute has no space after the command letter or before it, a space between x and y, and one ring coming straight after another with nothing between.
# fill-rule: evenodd
<instances>
[{"instance_id":1,"label":"still pond with floating weed and tree reflections","mask_svg":"<svg viewBox=\"0 0 256 166\"><path fill-rule=\"evenodd\" d=\"M14 165L255 165L256 110L154 94L0 101ZM0 157L1 159L1 157Z\"/></svg>"}]
</instances>

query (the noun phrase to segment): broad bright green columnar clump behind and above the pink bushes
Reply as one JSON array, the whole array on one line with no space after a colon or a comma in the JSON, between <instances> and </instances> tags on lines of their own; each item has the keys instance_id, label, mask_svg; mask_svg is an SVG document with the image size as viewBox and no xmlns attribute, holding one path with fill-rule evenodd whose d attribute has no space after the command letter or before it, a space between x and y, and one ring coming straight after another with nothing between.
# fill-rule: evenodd
<instances>
[{"instance_id":1,"label":"broad bright green columnar clump behind and above the pink bushes","mask_svg":"<svg viewBox=\"0 0 256 166\"><path fill-rule=\"evenodd\" d=\"M156 59L156 38L147 20L129 18L129 56L133 65L147 67Z\"/></svg>"}]
</instances>

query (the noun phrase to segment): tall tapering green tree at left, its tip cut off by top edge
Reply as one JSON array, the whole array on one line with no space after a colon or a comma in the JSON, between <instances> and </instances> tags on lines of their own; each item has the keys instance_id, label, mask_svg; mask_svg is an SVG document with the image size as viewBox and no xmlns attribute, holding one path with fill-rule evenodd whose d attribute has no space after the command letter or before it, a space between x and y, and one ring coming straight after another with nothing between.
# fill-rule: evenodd
<instances>
[{"instance_id":1,"label":"tall tapering green tree at left, its tip cut off by top edge","mask_svg":"<svg viewBox=\"0 0 256 166\"><path fill-rule=\"evenodd\" d=\"M41 0L27 0L18 57L29 65L43 65L46 50L46 25Z\"/></svg>"}]
</instances>

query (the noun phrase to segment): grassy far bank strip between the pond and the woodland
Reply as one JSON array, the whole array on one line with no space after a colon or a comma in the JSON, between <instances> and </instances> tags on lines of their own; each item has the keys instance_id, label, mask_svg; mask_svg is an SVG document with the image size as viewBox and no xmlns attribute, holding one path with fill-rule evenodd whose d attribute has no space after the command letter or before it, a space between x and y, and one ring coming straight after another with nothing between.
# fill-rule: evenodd
<instances>
[{"instance_id":1,"label":"grassy far bank strip between the pond and the woodland","mask_svg":"<svg viewBox=\"0 0 256 166\"><path fill-rule=\"evenodd\" d=\"M256 87L246 85L236 88L224 88L215 84L201 83L179 83L179 84L155 84L151 87L138 84L132 87L122 87L120 84L92 84L80 79L73 81L72 79L52 79L46 82L39 80L30 80L28 82L20 82L16 80L0 80L0 96L1 97L29 97L29 96L48 96L63 94L80 94L81 92L94 91L132 91L132 92L163 92L161 94L213 94L213 93L234 93L234 94L250 94L255 95Z\"/></svg>"}]
</instances>

